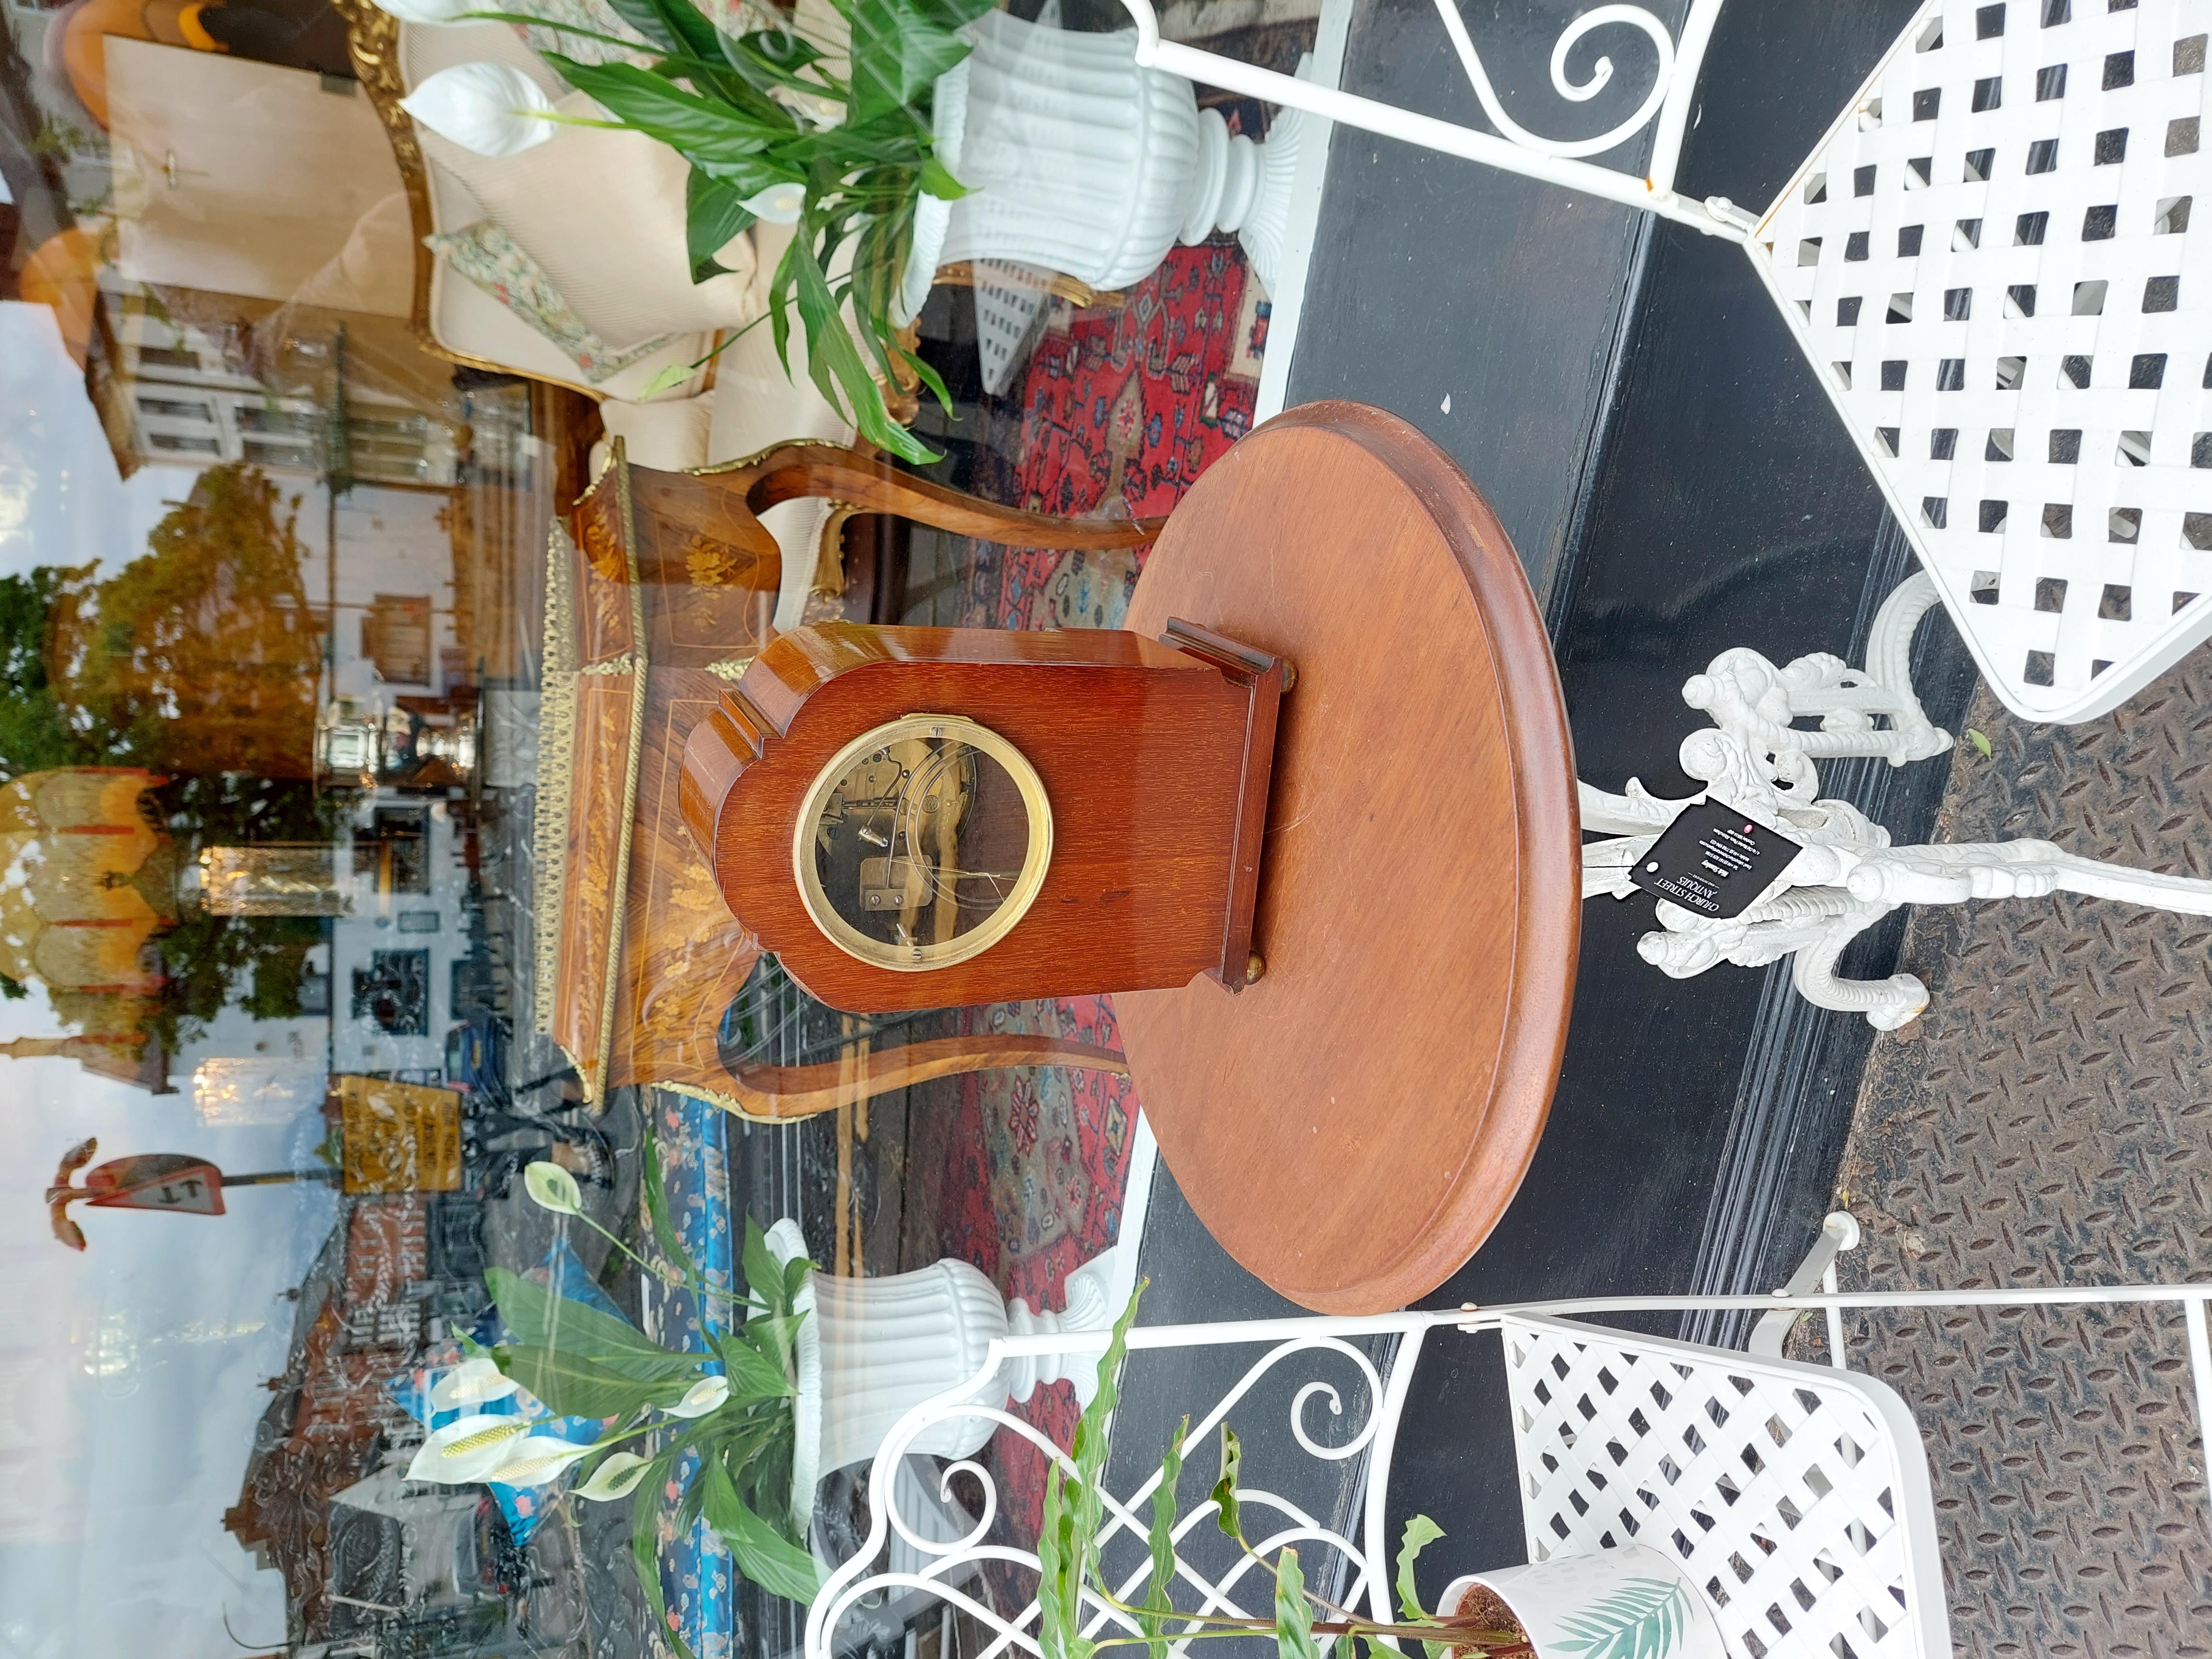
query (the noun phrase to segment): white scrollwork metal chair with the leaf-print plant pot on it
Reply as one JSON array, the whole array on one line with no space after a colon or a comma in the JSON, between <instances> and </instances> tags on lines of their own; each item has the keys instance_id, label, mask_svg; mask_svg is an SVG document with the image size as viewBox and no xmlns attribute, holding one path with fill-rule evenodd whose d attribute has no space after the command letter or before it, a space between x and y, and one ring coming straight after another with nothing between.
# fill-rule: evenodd
<instances>
[{"instance_id":1,"label":"white scrollwork metal chair with the leaf-print plant pot on it","mask_svg":"<svg viewBox=\"0 0 2212 1659\"><path fill-rule=\"evenodd\" d=\"M1338 1599L1349 1608L1365 1601L1376 1619L1394 1617L1385 1511L1413 1367L1431 1338L1449 1343L1498 1332L1531 1562L1630 1540L1659 1548L1703 1586L1739 1659L1944 1659L1951 1637L1927 1458L1905 1402L1887 1385L1843 1369L1840 1312L2179 1303L2185 1310L2197 1416L2201 1425L2212 1425L2212 1349L2205 1338L2212 1285L1836 1294L1836 1252L1856 1241L1851 1217L1829 1217L1820 1245L1774 1296L1593 1296L1374 1318L1152 1325L1133 1329L1128 1347L1133 1356L1261 1349L1210 1407L1201 1400L1177 1402L1177 1409L1190 1407L1192 1447L1232 1420L1239 1402L1272 1374L1283 1371L1296 1383L1307 1367L1327 1367L1296 1387L1290 1402L1294 1451L1274 1447L1274 1455L1336 1464L1365 1458L1358 1537L1349 1537L1349 1528L1334 1531L1274 1491L1241 1486L1239 1500L1254 1515L1245 1531L1256 1548L1294 1544L1310 1575L1334 1555L1345 1586ZM1816 1283L1825 1290L1816 1292ZM1690 1310L1761 1310L1767 1316L1754 1329L1747 1354L1586 1323L1590 1314ZM1834 1367L1781 1358L1783 1336L1805 1310L1827 1314ZM1380 1360L1358 1345L1376 1336L1396 1338ZM984 1394L1000 1365L1042 1352L1037 1345L1044 1340L1053 1338L995 1343L984 1371L967 1389L909 1411L876 1453L869 1491L896 1493L907 1447L931 1425L958 1416L989 1418L1071 1467L1035 1427L971 1398ZM1104 1347L1106 1336L1088 1334L1088 1340ZM1073 1347L1064 1336L1057 1343ZM1365 1394L1349 1402L1349 1416L1340 1387L1345 1367ZM1307 1416L1316 1400L1338 1420L1332 1442L1312 1433ZM1161 1425L1148 1427L1157 1440ZM1250 1431L1250 1422L1245 1427ZM1248 1458L1248 1473L1252 1467ZM885 1595L914 1593L962 1610L991 1632L969 1659L1040 1652L1035 1601L1004 1613L971 1582L978 1564L1035 1571L1037 1557L984 1542L998 1511L987 1471L973 1462L953 1464L945 1475L947 1498L958 1480L982 1486L984 1509L969 1535L956 1542L933 1537L925 1517L900 1513L896 1498L874 1506L867 1542L827 1579L807 1613L807 1659L841 1652L841 1626L856 1610ZM1126 1498L1108 1493L1102 1535L1124 1535L1141 1546L1157 1482L1155 1471ZM1250 1562L1208 1577L1188 1559L1186 1540L1194 1528L1212 1531L1210 1515L1208 1502L1177 1526L1177 1606L1270 1617L1272 1579L1250 1575L1248 1582ZM1115 1595L1121 1601L1141 1599L1146 1573L1148 1562L1135 1564L1115 1584ZM1135 1635L1135 1624L1097 1601L1086 1635ZM1177 1655L1181 1659L1181 1648Z\"/></svg>"}]
</instances>

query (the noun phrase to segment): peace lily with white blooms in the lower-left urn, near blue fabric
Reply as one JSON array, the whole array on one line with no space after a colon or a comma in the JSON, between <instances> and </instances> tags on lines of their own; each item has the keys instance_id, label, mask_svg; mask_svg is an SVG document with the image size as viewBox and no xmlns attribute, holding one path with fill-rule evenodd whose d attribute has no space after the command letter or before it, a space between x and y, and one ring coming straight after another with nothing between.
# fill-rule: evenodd
<instances>
[{"instance_id":1,"label":"peace lily with white blooms in the lower-left urn, near blue fabric","mask_svg":"<svg viewBox=\"0 0 2212 1659\"><path fill-rule=\"evenodd\" d=\"M812 1493L792 1489L792 1455L799 1334L807 1318L796 1303L814 1263L776 1261L768 1234L748 1217L745 1290L708 1285L670 1223L650 1141L644 1148L646 1217L672 1267L644 1261L599 1228L584 1212L575 1177L557 1164L531 1164L522 1181L540 1206L602 1232L648 1272L690 1290L699 1307L726 1303L732 1323L708 1323L703 1347L661 1347L615 1314L493 1267L487 1283L509 1340L491 1349L465 1343L467 1358L431 1389L436 1409L462 1416L422 1442L407 1478L544 1486L580 1469L577 1498L613 1502L644 1491L633 1506L630 1548L639 1588L661 1628L668 1610L657 1540L670 1495L677 1533L703 1517L748 1579L774 1595L812 1601L818 1588L805 1546ZM608 1431L577 1444L544 1433L542 1422L478 1409L518 1389L557 1416L599 1418Z\"/></svg>"}]
</instances>

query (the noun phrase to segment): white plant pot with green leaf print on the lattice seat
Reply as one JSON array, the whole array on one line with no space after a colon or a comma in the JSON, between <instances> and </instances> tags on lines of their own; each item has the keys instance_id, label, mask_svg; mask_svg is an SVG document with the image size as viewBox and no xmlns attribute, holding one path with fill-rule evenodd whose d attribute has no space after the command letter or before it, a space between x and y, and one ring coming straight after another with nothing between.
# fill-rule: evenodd
<instances>
[{"instance_id":1,"label":"white plant pot with green leaf print on the lattice seat","mask_svg":"<svg viewBox=\"0 0 2212 1659\"><path fill-rule=\"evenodd\" d=\"M1469 1573L1438 1606L1460 1610L1475 1586L1513 1610L1535 1659L1728 1659L1703 1590L1644 1544Z\"/></svg>"}]
</instances>

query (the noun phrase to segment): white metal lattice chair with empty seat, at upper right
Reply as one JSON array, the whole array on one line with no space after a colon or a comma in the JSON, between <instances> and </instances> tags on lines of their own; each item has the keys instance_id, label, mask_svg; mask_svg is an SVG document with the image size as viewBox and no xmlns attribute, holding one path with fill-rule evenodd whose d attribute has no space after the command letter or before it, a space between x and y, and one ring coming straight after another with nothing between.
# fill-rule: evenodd
<instances>
[{"instance_id":1,"label":"white metal lattice chair with empty seat, at upper right","mask_svg":"<svg viewBox=\"0 0 2212 1659\"><path fill-rule=\"evenodd\" d=\"M1159 38L1137 62L1621 201L1739 243L1805 347L1982 675L2015 714L2104 714L2212 635L2212 272L2192 201L2208 0L1929 0L1765 212L1674 190L1721 0L1655 53L1644 102L1593 137L1513 122L1436 0L1484 133ZM1644 177L1595 166L1652 131ZM1312 137L1312 135L1307 135ZM2212 206L2212 204L2208 204Z\"/></svg>"}]
</instances>

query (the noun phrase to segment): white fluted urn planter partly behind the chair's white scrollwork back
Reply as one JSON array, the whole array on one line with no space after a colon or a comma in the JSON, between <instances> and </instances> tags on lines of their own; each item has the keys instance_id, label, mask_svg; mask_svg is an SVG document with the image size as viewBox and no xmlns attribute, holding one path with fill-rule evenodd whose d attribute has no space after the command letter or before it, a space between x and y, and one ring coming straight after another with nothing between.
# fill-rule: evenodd
<instances>
[{"instance_id":1,"label":"white fluted urn planter partly behind the chair's white scrollwork back","mask_svg":"<svg viewBox=\"0 0 2212 1659\"><path fill-rule=\"evenodd\" d=\"M776 1261L805 1256L796 1221L768 1230ZM792 1451L792 1506L814 1504L814 1482L830 1469L867 1462L891 1427L922 1400L967 1383L998 1336L1051 1336L1113 1327L1113 1261L1108 1250L1068 1274L1068 1305L1060 1314L1031 1312L1006 1301L964 1261L936 1261L911 1274L836 1279L807 1274L796 1307L799 1327L796 1444ZM1097 1354L1013 1360L1000 1376L998 1398L1029 1400L1040 1383L1068 1380L1086 1405L1097 1391ZM991 1438L989 1418L951 1418L916 1436L914 1451L967 1458Z\"/></svg>"}]
</instances>

